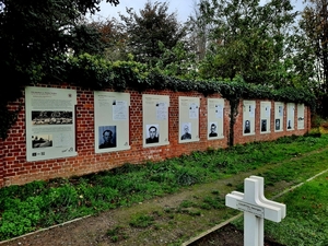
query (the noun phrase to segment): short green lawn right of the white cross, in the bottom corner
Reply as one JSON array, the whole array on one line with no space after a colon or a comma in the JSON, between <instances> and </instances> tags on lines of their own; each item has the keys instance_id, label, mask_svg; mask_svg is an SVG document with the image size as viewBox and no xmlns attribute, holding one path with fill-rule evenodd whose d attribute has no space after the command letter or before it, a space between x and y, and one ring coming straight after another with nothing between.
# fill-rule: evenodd
<instances>
[{"instance_id":1,"label":"short green lawn right of the white cross, in the bottom corner","mask_svg":"<svg viewBox=\"0 0 328 246\"><path fill-rule=\"evenodd\" d=\"M286 204L286 218L281 223L266 222L268 236L283 245L328 245L328 173L278 201Z\"/></svg>"}]
</instances>

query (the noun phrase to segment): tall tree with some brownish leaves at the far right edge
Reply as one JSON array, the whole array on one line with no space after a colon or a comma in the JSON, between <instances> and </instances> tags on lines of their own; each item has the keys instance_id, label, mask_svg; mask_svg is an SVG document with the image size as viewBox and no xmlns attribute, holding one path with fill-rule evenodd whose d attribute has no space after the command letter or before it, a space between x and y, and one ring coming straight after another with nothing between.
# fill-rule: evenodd
<instances>
[{"instance_id":1,"label":"tall tree with some brownish leaves at the far right edge","mask_svg":"<svg viewBox=\"0 0 328 246\"><path fill-rule=\"evenodd\" d=\"M328 13L327 3L321 0L304 1L304 10L297 31L297 69L300 74L309 74L308 83L318 97L318 113L327 117L328 107Z\"/></svg>"}]
</instances>

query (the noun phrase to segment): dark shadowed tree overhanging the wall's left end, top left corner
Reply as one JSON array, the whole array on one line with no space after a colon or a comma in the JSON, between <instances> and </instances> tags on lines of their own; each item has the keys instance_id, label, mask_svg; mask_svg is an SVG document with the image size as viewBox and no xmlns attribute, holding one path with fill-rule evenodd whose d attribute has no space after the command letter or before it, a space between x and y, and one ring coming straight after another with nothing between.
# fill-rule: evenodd
<instances>
[{"instance_id":1,"label":"dark shadowed tree overhanging the wall's left end, top left corner","mask_svg":"<svg viewBox=\"0 0 328 246\"><path fill-rule=\"evenodd\" d=\"M51 69L56 56L65 54L79 42L93 39L90 37L94 33L79 26L79 21L86 12L98 10L99 2L101 0L0 0L2 113L5 112L7 102L16 99L25 85L42 80L48 69ZM118 0L107 2L119 3ZM79 48L81 51L83 47L80 45ZM1 114L0 117L1 125L11 122L7 120L8 115ZM0 137L4 137L2 130Z\"/></svg>"}]
</instances>

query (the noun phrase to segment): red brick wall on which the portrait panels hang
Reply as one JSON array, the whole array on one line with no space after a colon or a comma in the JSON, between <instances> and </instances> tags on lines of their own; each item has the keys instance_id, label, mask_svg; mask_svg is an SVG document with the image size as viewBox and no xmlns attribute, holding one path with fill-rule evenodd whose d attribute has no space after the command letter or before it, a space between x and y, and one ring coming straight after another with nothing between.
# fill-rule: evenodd
<instances>
[{"instance_id":1,"label":"red brick wall on which the portrait panels hang","mask_svg":"<svg viewBox=\"0 0 328 246\"><path fill-rule=\"evenodd\" d=\"M55 86L54 86L55 87ZM19 119L15 125L9 130L9 137L4 141L0 141L0 187L13 184L25 184L36 179L49 179L54 177L69 177L72 175L83 175L95 173L104 169L110 169L120 166L125 163L138 164L148 160L160 161L181 154L188 154L192 151L204 151L208 148L226 148L230 133L230 105L225 101L224 107L224 139L208 140L208 118L207 118L207 98L198 92L173 92L173 91L145 91L145 94L159 94L169 96L168 112L168 134L169 144L162 147L143 148L142 132L142 94L137 91L127 91L130 93L130 150L116 151L109 153L94 153L94 98L93 91L82 90L74 86L57 86L62 89L77 90L77 156L62 157L56 160L26 162L25 147L25 107L24 98L11 104L10 109L17 109L22 105L19 114ZM200 97L200 114L199 114L199 134L200 141L178 143L179 129L179 113L178 98L179 96L196 96ZM209 97L220 98L219 94L210 95ZM259 109L260 101L256 101L256 134L243 136L243 102L238 107L239 114L236 118L234 127L234 143L245 143L250 141L267 141L273 140L282 136L304 134L311 127L309 109L305 107L305 129L296 129L295 112L295 130L282 131L276 133L259 133ZM274 119L274 102L271 102L271 119ZM295 107L296 108L296 107ZM242 113L242 114L241 114ZM285 113L284 113L285 122ZM271 129L273 129L273 120L271 120Z\"/></svg>"}]
</instances>

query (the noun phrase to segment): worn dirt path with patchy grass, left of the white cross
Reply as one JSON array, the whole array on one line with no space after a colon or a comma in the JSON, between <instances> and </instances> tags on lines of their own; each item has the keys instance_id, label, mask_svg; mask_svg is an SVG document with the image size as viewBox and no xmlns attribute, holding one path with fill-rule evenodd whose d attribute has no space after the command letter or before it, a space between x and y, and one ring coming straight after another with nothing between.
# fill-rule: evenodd
<instances>
[{"instance_id":1,"label":"worn dirt path with patchy grass, left of the white cross","mask_svg":"<svg viewBox=\"0 0 328 246\"><path fill-rule=\"evenodd\" d=\"M179 204L185 201L197 202L206 196L211 196L213 190L224 195L235 190L244 178L263 172L263 167L253 173L243 173L218 181L204 185L196 185L183 189L178 194L152 199L129 208L118 208L97 215L87 216L71 223L54 226L22 237L0 243L1 246L57 246L57 245L120 245L120 246L157 246L157 245L181 245L184 242L210 230L238 212L231 209L201 210L199 214L190 210L178 210ZM232 185L234 184L234 185ZM270 186L272 190L282 190L290 184L280 183ZM192 209L191 209L192 210ZM152 214L153 224L147 227L134 227L130 225L131 216L136 214ZM194 214L194 215L192 215ZM195 215L196 214L196 215ZM117 230L108 234L108 230ZM243 233L229 224L216 232L190 244L192 246L225 245L242 246ZM266 241L266 246L278 246L274 242Z\"/></svg>"}]
</instances>

